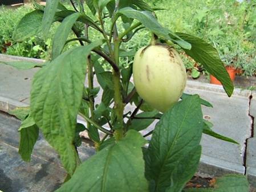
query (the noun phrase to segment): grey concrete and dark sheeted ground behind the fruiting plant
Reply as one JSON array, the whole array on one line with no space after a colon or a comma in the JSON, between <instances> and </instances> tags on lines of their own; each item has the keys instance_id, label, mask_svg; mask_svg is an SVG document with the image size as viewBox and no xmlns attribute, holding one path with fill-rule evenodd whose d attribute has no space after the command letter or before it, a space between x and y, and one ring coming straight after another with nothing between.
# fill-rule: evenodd
<instances>
[{"instance_id":1,"label":"grey concrete and dark sheeted ground behind the fruiting plant","mask_svg":"<svg viewBox=\"0 0 256 192\"><path fill-rule=\"evenodd\" d=\"M36 71L18 71L0 64L0 189L5 192L52 191L65 177L57 154L42 136L36 143L31 162L21 160L17 131L20 121L6 114L9 109L29 105L31 79ZM227 173L246 174L251 186L256 187L256 138L253 134L256 92L235 89L229 98L219 85L190 80L185 92L197 93L210 101L213 108L203 107L205 119L213 122L214 131L239 142L235 145L204 135L197 175L213 178ZM153 129L153 125L149 129ZM94 149L83 144L79 152L86 159L94 154Z\"/></svg>"}]
</instances>

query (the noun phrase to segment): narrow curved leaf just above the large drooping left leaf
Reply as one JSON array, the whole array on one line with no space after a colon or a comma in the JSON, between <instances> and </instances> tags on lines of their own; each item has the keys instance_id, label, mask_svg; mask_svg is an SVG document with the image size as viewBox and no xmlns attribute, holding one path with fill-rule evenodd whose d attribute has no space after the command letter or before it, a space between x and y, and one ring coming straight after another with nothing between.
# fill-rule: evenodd
<instances>
[{"instance_id":1,"label":"narrow curved leaf just above the large drooping left leaf","mask_svg":"<svg viewBox=\"0 0 256 192\"><path fill-rule=\"evenodd\" d=\"M70 34L72 27L79 18L80 13L74 13L66 17L55 32L52 42L52 60L57 58L63 50L65 42Z\"/></svg>"}]
</instances>

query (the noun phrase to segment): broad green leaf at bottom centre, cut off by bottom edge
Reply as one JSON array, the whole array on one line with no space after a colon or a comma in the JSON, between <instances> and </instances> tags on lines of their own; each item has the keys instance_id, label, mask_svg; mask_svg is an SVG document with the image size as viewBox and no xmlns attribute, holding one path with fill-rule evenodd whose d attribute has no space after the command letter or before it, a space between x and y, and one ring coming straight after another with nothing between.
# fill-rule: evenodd
<instances>
[{"instance_id":1,"label":"broad green leaf at bottom centre, cut off by bottom edge","mask_svg":"<svg viewBox=\"0 0 256 192\"><path fill-rule=\"evenodd\" d=\"M141 150L145 143L140 133L129 130L115 145L107 146L83 162L70 181L55 192L148 191Z\"/></svg>"}]
</instances>

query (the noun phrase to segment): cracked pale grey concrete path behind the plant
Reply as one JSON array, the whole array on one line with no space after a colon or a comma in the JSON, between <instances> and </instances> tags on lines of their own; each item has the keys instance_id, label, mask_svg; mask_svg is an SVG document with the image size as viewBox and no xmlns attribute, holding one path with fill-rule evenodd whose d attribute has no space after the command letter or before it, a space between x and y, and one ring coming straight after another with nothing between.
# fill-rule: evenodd
<instances>
[{"instance_id":1,"label":"cracked pale grey concrete path behind the plant","mask_svg":"<svg viewBox=\"0 0 256 192\"><path fill-rule=\"evenodd\" d=\"M31 79L35 72L36 69L17 71L14 68L0 64L1 111L7 112L9 109L17 106L29 104ZM210 101L214 108L203 108L205 119L213 122L214 131L234 138L240 144L234 145L204 135L201 142L203 151L198 174L205 177L214 177L226 173L247 174L250 183L256 187L256 140L253 138L253 120L256 116L256 92L235 89L234 95L229 98L219 85L197 83L194 81L188 81L185 92L197 93L203 99ZM6 119L7 117L4 118ZM10 125L12 124L10 123ZM5 148L0 148L0 153L4 153L3 151L6 150L7 146L12 146L10 150L15 150L12 152L13 155L11 157L15 161L15 159L18 159L17 153L14 153L17 152L18 144L11 144L7 137L3 138L2 130L5 126L0 124L0 141L7 142L7 144L0 142L1 146L5 146ZM15 126L9 126L7 129L10 130L10 133L15 132L17 134L17 128L18 125L16 123ZM149 129L152 128L151 126ZM41 145L47 144L41 143ZM84 154L86 154L86 147L83 150L85 150ZM40 148L36 151L40 152ZM45 158L48 155L40 154L40 156ZM22 164L22 162L19 161L17 164ZM0 170L3 168L5 167L0 165ZM29 169L29 166L26 169ZM3 169L3 171L6 170Z\"/></svg>"}]
</instances>

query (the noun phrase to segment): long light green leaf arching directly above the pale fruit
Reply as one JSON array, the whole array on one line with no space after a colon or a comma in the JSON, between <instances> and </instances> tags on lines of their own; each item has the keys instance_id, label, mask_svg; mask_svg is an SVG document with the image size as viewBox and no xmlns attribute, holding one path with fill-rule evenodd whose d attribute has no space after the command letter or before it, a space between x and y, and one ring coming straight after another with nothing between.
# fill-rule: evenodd
<instances>
[{"instance_id":1,"label":"long light green leaf arching directly above the pale fruit","mask_svg":"<svg viewBox=\"0 0 256 192\"><path fill-rule=\"evenodd\" d=\"M146 28L151 30L154 34L159 36L164 40L172 40L176 42L179 46L185 49L190 49L191 45L185 40L182 40L178 35L174 34L172 31L168 30L165 27L162 27L161 24L157 21L153 13L149 11L138 11L132 9L131 7L125 7L118 11L120 14L125 15L128 18L133 18L139 20ZM174 36L176 39L170 37Z\"/></svg>"}]
</instances>

